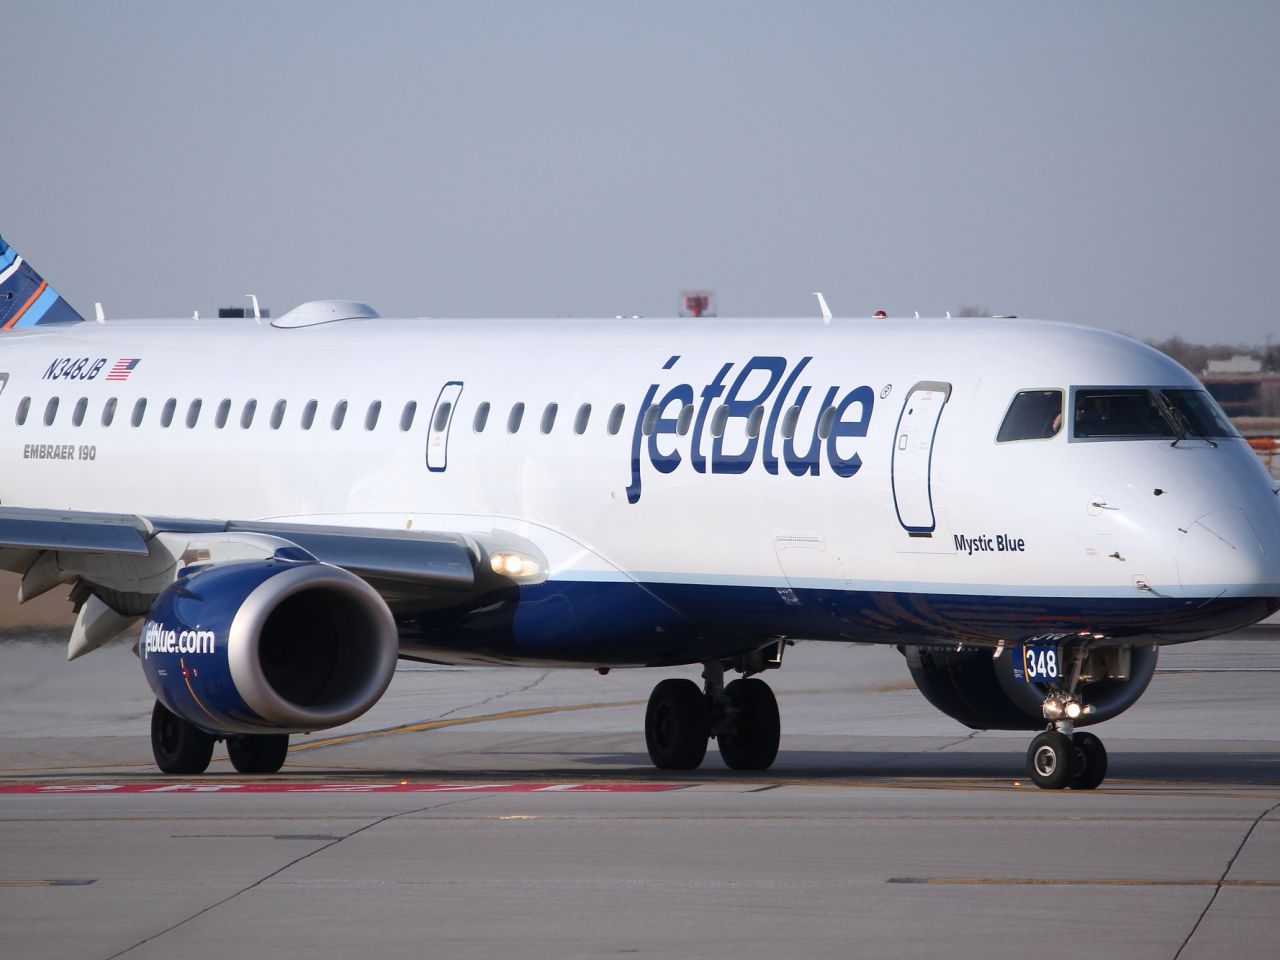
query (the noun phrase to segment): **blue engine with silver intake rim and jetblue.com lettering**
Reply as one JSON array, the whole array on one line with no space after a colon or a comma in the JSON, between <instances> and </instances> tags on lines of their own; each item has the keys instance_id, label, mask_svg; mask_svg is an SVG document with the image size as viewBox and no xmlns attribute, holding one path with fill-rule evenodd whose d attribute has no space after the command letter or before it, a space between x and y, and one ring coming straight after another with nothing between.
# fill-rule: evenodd
<instances>
[{"instance_id":1,"label":"blue engine with silver intake rim and jetblue.com lettering","mask_svg":"<svg viewBox=\"0 0 1280 960\"><path fill-rule=\"evenodd\" d=\"M215 563L151 607L138 657L156 699L215 733L355 719L396 671L396 621L353 573L315 559Z\"/></svg>"}]
</instances>

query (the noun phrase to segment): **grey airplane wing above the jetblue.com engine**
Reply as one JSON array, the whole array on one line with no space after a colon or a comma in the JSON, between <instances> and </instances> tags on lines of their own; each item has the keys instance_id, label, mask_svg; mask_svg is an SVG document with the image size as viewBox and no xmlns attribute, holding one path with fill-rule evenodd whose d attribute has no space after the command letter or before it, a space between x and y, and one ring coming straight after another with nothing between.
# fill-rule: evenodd
<instances>
[{"instance_id":1,"label":"grey airplane wing above the jetblue.com engine","mask_svg":"<svg viewBox=\"0 0 1280 960\"><path fill-rule=\"evenodd\" d=\"M301 553L300 553L301 552ZM521 582L545 576L536 545L507 532L210 521L87 511L0 507L0 568L22 575L19 602L74 584L78 620L69 659L119 634L197 563L306 557L342 567L372 586L394 612L412 598L451 605L492 589L494 557L532 562ZM527 571L539 573L530 576Z\"/></svg>"}]
</instances>

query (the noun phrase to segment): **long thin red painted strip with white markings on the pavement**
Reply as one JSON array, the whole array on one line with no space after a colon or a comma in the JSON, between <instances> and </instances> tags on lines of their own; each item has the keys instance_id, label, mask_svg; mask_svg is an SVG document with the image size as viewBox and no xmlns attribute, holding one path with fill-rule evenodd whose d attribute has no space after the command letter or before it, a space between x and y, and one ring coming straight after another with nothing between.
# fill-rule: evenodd
<instances>
[{"instance_id":1,"label":"long thin red painted strip with white markings on the pavement","mask_svg":"<svg viewBox=\"0 0 1280 960\"><path fill-rule=\"evenodd\" d=\"M682 783L12 783L0 794L655 794Z\"/></svg>"}]
</instances>

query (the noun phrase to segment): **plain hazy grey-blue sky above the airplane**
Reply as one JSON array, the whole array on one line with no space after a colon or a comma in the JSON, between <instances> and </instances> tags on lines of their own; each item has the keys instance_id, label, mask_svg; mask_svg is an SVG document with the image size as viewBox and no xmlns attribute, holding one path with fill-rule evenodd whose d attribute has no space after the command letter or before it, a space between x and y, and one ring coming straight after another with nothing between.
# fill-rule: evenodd
<instances>
[{"instance_id":1,"label":"plain hazy grey-blue sky above the airplane","mask_svg":"<svg viewBox=\"0 0 1280 960\"><path fill-rule=\"evenodd\" d=\"M17 6L17 9L14 9ZM82 312L940 315L1261 343L1280 4L6 5L0 233Z\"/></svg>"}]
</instances>

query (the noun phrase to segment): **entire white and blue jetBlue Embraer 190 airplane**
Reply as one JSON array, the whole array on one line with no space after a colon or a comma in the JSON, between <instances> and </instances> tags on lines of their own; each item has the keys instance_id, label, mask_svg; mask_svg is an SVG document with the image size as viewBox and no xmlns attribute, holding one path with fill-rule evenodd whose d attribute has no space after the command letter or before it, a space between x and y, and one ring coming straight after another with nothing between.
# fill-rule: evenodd
<instances>
[{"instance_id":1,"label":"entire white and blue jetBlue Embraer 190 airplane","mask_svg":"<svg viewBox=\"0 0 1280 960\"><path fill-rule=\"evenodd\" d=\"M83 320L0 241L0 567L125 630L168 773L367 710L397 658L671 667L662 769L765 769L759 675L896 646L974 728L1078 727L1280 609L1280 497L1181 366L1023 320ZM741 675L726 681L726 673Z\"/></svg>"}]
</instances>

